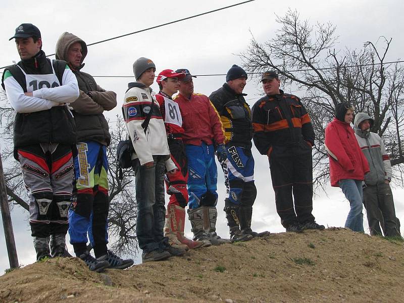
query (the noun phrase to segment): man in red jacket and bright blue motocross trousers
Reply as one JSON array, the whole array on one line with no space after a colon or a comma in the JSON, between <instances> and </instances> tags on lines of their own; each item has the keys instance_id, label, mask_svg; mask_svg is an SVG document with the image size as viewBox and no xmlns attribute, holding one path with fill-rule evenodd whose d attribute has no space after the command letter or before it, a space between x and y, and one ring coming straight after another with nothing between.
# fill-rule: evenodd
<instances>
[{"instance_id":1,"label":"man in red jacket and bright blue motocross trousers","mask_svg":"<svg viewBox=\"0 0 404 303\"><path fill-rule=\"evenodd\" d=\"M224 144L224 129L209 98L193 92L192 78L195 76L187 69L176 72L185 74L175 101L181 109L182 139L188 159L188 215L193 239L203 241L204 246L219 245L229 242L216 234L218 171L215 146Z\"/></svg>"}]
</instances>

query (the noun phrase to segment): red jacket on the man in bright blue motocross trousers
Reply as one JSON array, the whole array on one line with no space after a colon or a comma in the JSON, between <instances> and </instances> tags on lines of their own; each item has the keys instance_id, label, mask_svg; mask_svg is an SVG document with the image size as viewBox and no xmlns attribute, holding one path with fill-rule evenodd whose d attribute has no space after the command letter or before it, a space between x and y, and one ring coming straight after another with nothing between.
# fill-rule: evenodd
<instances>
[{"instance_id":1,"label":"red jacket on the man in bright blue motocross trousers","mask_svg":"<svg viewBox=\"0 0 404 303\"><path fill-rule=\"evenodd\" d=\"M193 93L188 99L180 93L174 98L180 106L182 140L185 144L224 143L224 129L216 108L206 95Z\"/></svg>"}]
</instances>

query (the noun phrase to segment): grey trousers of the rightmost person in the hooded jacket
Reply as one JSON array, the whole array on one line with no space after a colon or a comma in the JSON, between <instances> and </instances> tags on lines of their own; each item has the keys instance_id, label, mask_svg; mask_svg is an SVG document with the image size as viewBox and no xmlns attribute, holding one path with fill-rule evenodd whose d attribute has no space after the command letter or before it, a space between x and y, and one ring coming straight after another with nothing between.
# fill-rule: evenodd
<instances>
[{"instance_id":1,"label":"grey trousers of the rightmost person in the hooded jacket","mask_svg":"<svg viewBox=\"0 0 404 303\"><path fill-rule=\"evenodd\" d=\"M384 219L385 236L394 237L400 235L395 219L393 194L389 184L380 183L365 187L363 189L363 202L371 235L382 234L379 225L380 212Z\"/></svg>"}]
</instances>

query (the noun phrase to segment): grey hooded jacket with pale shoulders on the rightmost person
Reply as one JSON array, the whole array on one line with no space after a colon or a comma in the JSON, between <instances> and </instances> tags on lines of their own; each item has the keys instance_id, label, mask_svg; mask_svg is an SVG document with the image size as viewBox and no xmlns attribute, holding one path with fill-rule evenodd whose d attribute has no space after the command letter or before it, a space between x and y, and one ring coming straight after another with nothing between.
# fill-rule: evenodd
<instances>
[{"instance_id":1,"label":"grey hooded jacket with pale shoulders on the rightmost person","mask_svg":"<svg viewBox=\"0 0 404 303\"><path fill-rule=\"evenodd\" d=\"M390 158L378 134L370 130L362 131L359 128L359 124L365 120L370 120L371 126L374 123L366 113L358 113L355 116L355 136L369 163L370 172L365 175L365 184L376 185L383 183L384 180L391 180Z\"/></svg>"}]
</instances>

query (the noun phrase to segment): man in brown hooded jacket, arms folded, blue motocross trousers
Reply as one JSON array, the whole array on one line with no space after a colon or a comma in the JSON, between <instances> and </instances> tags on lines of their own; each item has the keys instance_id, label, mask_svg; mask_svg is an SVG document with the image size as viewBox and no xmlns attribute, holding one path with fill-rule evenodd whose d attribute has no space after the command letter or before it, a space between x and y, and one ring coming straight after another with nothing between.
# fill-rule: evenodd
<instances>
[{"instance_id":1,"label":"man in brown hooded jacket, arms folded, blue motocross trousers","mask_svg":"<svg viewBox=\"0 0 404 303\"><path fill-rule=\"evenodd\" d=\"M79 37L64 32L56 44L56 58L65 60L77 78L80 95L74 102L78 156L74 159L75 181L72 208L69 211L69 234L77 257L90 270L127 268L132 260L122 260L108 250L107 218L108 159L110 144L108 122L103 112L117 105L117 95L97 85L94 78L81 71L87 45ZM87 231L95 258L87 251Z\"/></svg>"}]
</instances>

